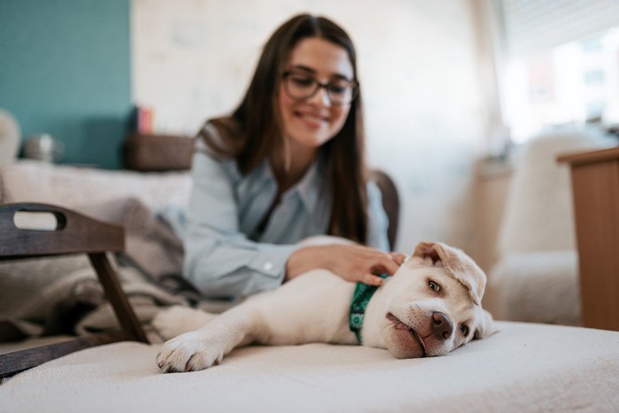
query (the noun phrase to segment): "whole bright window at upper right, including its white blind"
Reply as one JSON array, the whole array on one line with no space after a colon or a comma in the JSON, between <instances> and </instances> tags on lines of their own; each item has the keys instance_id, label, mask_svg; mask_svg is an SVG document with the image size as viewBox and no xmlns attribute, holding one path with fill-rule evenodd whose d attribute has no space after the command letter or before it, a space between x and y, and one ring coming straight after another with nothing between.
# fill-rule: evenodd
<instances>
[{"instance_id":1,"label":"whole bright window at upper right, including its white blind","mask_svg":"<svg viewBox=\"0 0 619 413\"><path fill-rule=\"evenodd\" d=\"M619 2L496 1L512 141L553 126L619 123Z\"/></svg>"}]
</instances>

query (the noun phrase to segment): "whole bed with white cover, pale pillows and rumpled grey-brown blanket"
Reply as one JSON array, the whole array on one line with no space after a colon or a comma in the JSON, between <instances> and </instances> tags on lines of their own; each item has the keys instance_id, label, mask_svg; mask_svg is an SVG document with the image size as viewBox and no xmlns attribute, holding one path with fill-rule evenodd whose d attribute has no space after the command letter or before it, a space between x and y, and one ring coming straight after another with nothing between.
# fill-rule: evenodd
<instances>
[{"instance_id":1,"label":"whole bed with white cover, pale pillows and rumpled grey-brown blanket","mask_svg":"<svg viewBox=\"0 0 619 413\"><path fill-rule=\"evenodd\" d=\"M160 340L148 329L149 320L169 305L195 304L195 296L178 279L166 278L180 271L179 246L172 228L154 217L166 203L187 201L187 172L112 172L19 161L0 167L0 180L4 203L56 203L126 227L127 257L134 267L120 263L119 273L152 343L89 348L5 379L0 411L619 409L619 332L559 325L499 321L499 333L435 358L397 360L383 349L326 344L252 346L206 371L161 373L155 363ZM28 265L33 272L44 269L44 277L28 279L19 290L11 287L15 279L0 277L0 316L14 322L11 340L15 334L62 340L42 334L50 330L45 320L58 308L58 297L71 294L81 294L73 301L91 300L88 314L73 325L75 332L110 328L109 306L83 263L71 258ZM15 268L0 266L0 272L12 274ZM31 301L19 304L27 294ZM28 317L19 313L25 308ZM27 342L4 343L0 351Z\"/></svg>"}]
</instances>

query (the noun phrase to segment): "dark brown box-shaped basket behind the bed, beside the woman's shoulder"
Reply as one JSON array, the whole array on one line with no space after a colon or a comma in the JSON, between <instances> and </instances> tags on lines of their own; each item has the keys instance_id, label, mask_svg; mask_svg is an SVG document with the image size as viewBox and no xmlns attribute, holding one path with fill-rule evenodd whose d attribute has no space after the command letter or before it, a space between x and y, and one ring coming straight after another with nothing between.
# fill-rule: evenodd
<instances>
[{"instance_id":1,"label":"dark brown box-shaped basket behind the bed, beside the woman's shoulder","mask_svg":"<svg viewBox=\"0 0 619 413\"><path fill-rule=\"evenodd\" d=\"M130 134L124 148L126 169L141 172L183 171L191 168L194 140L187 136Z\"/></svg>"}]
</instances>

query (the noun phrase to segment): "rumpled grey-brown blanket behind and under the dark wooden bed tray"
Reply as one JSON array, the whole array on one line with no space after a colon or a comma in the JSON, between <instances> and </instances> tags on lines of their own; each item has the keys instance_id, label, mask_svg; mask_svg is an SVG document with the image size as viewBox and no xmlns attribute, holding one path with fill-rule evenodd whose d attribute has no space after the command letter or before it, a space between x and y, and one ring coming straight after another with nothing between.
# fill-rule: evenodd
<instances>
[{"instance_id":1,"label":"rumpled grey-brown blanket behind and under the dark wooden bed tray","mask_svg":"<svg viewBox=\"0 0 619 413\"><path fill-rule=\"evenodd\" d=\"M125 227L126 251L110 257L143 324L164 307L201 303L199 294L180 276L180 240L147 206L125 199L80 211ZM0 341L117 327L87 256L0 263Z\"/></svg>"}]
</instances>

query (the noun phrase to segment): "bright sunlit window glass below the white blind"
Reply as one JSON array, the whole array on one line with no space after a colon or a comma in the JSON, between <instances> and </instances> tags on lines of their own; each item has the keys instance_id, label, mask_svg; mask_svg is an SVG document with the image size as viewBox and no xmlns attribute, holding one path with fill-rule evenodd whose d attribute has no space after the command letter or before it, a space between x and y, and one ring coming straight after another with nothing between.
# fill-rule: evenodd
<instances>
[{"instance_id":1,"label":"bright sunlit window glass below the white blind","mask_svg":"<svg viewBox=\"0 0 619 413\"><path fill-rule=\"evenodd\" d=\"M506 85L507 121L516 142L557 125L619 122L619 28L510 59Z\"/></svg>"}]
</instances>

